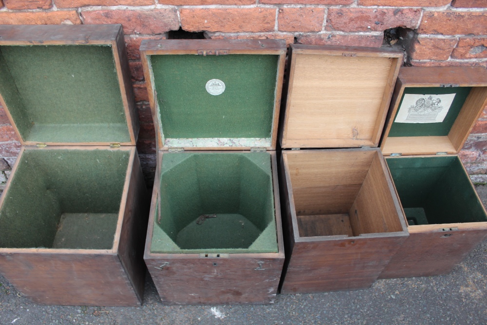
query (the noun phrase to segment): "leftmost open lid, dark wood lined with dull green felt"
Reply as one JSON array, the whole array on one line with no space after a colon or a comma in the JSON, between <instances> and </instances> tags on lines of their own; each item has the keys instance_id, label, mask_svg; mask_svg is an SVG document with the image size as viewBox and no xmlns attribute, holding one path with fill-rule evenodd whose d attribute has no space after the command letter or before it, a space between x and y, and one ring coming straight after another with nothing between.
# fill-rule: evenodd
<instances>
[{"instance_id":1,"label":"leftmost open lid, dark wood lined with dull green felt","mask_svg":"<svg viewBox=\"0 0 487 325\"><path fill-rule=\"evenodd\" d=\"M135 145L122 26L0 25L0 104L23 145Z\"/></svg>"}]
</instances>

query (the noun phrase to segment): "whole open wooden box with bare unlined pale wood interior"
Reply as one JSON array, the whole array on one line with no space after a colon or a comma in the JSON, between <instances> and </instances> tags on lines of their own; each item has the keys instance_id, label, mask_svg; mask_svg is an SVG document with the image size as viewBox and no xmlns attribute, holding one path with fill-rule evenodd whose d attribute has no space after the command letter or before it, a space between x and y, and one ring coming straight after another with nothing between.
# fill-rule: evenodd
<instances>
[{"instance_id":1,"label":"whole open wooden box with bare unlined pale wood interior","mask_svg":"<svg viewBox=\"0 0 487 325\"><path fill-rule=\"evenodd\" d=\"M289 62L281 293L370 287L408 236L384 158L364 148L378 144L402 54L291 45Z\"/></svg>"}]
</instances>

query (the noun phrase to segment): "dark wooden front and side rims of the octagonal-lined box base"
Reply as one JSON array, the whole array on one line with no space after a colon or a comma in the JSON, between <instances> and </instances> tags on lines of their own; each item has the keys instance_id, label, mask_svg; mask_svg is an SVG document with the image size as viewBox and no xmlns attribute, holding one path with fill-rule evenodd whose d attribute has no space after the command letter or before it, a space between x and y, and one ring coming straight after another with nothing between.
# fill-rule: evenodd
<instances>
[{"instance_id":1,"label":"dark wooden front and side rims of the octagonal-lined box base","mask_svg":"<svg viewBox=\"0 0 487 325\"><path fill-rule=\"evenodd\" d=\"M199 254L150 252L160 186L160 166L164 156L163 152L158 153L144 260L164 304L228 305L274 302L284 263L284 244L276 153L270 154L279 251L228 254L228 257L212 258L200 257Z\"/></svg>"}]
</instances>

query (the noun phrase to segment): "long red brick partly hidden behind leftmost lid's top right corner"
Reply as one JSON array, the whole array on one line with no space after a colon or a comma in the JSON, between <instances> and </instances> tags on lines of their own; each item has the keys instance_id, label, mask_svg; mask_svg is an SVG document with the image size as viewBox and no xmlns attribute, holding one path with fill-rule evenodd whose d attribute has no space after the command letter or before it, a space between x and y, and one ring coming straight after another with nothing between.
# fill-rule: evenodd
<instances>
[{"instance_id":1,"label":"long red brick partly hidden behind leftmost lid's top right corner","mask_svg":"<svg viewBox=\"0 0 487 325\"><path fill-rule=\"evenodd\" d=\"M122 24L124 33L161 34L179 29L175 8L150 10L95 10L81 12L85 24Z\"/></svg>"}]
</instances>

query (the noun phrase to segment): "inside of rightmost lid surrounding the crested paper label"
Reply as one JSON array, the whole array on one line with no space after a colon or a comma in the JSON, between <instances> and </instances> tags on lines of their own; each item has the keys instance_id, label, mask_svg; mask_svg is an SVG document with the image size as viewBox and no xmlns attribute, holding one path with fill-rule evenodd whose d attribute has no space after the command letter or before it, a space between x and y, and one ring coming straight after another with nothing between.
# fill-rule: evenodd
<instances>
[{"instance_id":1,"label":"inside of rightmost lid surrounding the crested paper label","mask_svg":"<svg viewBox=\"0 0 487 325\"><path fill-rule=\"evenodd\" d=\"M429 96L454 94L450 109L442 122L398 123L397 115L407 94L426 95L423 107L433 107ZM382 152L390 153L458 153L470 129L482 111L487 87L406 87L397 105ZM417 104L417 103L416 103ZM440 103L440 105L442 105ZM405 107L407 108L407 107ZM426 112L426 111L425 111Z\"/></svg>"}]
</instances>

